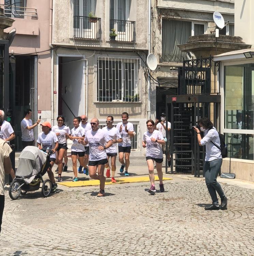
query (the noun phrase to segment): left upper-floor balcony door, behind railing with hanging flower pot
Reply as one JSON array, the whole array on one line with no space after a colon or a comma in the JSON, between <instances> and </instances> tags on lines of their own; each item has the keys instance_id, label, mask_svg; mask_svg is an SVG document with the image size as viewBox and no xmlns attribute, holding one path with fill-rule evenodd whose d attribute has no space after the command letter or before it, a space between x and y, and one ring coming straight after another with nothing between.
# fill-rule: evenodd
<instances>
[{"instance_id":1,"label":"left upper-floor balcony door, behind railing with hanging flower pot","mask_svg":"<svg viewBox=\"0 0 254 256\"><path fill-rule=\"evenodd\" d=\"M99 27L96 23L90 22L89 13L95 16L97 0L74 0L74 28L75 34L80 38L96 39L99 33ZM98 31L95 31L97 29Z\"/></svg>"}]
</instances>

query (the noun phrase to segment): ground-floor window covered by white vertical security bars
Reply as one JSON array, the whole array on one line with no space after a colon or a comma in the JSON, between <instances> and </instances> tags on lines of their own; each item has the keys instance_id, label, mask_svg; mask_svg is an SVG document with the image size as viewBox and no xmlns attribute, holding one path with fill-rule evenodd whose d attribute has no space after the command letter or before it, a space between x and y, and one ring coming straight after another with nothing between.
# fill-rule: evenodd
<instances>
[{"instance_id":1,"label":"ground-floor window covered by white vertical security bars","mask_svg":"<svg viewBox=\"0 0 254 256\"><path fill-rule=\"evenodd\" d=\"M98 57L97 101L140 102L140 59Z\"/></svg>"}]
</instances>

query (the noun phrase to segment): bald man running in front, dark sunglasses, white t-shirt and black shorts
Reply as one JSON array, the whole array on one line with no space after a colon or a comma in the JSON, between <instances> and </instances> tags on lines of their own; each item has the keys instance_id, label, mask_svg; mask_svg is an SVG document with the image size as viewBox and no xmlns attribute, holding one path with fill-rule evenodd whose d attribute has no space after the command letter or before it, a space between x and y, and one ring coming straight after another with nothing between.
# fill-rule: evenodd
<instances>
[{"instance_id":1,"label":"bald man running in front, dark sunglasses, white t-shirt and black shorts","mask_svg":"<svg viewBox=\"0 0 254 256\"><path fill-rule=\"evenodd\" d=\"M97 118L93 118L90 124L92 129L86 132L85 140L79 140L79 142L84 145L89 143L89 176L92 179L100 180L100 192L97 196L104 196L106 180L104 177L104 168L105 164L108 162L106 149L112 146L113 143L106 132L99 129L99 120ZM98 175L96 174L97 169Z\"/></svg>"}]
</instances>

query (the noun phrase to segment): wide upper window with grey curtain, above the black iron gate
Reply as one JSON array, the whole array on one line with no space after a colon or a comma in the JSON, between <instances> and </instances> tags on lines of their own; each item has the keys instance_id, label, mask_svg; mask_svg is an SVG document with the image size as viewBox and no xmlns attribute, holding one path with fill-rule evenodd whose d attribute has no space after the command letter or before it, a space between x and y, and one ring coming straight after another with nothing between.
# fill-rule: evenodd
<instances>
[{"instance_id":1,"label":"wide upper window with grey curtain, above the black iron gate","mask_svg":"<svg viewBox=\"0 0 254 256\"><path fill-rule=\"evenodd\" d=\"M162 20L162 55L180 55L182 52L177 47L184 44L190 36L206 33L205 22L191 22L182 20ZM185 56L185 54L184 54Z\"/></svg>"}]
</instances>

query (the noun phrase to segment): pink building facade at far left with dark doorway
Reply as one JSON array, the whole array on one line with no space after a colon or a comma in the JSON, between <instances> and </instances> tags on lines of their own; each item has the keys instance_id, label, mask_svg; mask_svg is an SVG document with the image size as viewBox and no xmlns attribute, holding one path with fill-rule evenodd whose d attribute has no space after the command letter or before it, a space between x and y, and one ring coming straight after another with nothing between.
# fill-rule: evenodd
<instances>
[{"instance_id":1,"label":"pink building facade at far left with dark doorway","mask_svg":"<svg viewBox=\"0 0 254 256\"><path fill-rule=\"evenodd\" d=\"M24 110L31 108L32 121L42 116L51 120L51 23L52 1L1 0L4 14L13 18L13 26L4 30L9 33L16 28L16 35L9 48L16 62L15 75L15 144L21 150L20 122ZM38 114L38 111L41 113ZM38 127L40 130L40 127ZM34 129L35 137L38 129Z\"/></svg>"}]
</instances>

